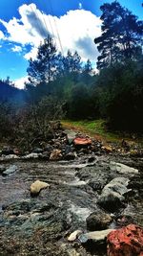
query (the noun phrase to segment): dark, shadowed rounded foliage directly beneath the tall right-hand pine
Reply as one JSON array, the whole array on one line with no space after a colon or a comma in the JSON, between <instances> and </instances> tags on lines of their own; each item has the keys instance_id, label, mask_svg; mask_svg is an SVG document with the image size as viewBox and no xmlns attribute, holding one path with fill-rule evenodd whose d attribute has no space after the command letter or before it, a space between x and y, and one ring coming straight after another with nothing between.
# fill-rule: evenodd
<instances>
[{"instance_id":1,"label":"dark, shadowed rounded foliage directly beneath the tall right-hand pine","mask_svg":"<svg viewBox=\"0 0 143 256\"><path fill-rule=\"evenodd\" d=\"M97 78L99 108L115 129L142 131L143 61L104 69Z\"/></svg>"}]
</instances>

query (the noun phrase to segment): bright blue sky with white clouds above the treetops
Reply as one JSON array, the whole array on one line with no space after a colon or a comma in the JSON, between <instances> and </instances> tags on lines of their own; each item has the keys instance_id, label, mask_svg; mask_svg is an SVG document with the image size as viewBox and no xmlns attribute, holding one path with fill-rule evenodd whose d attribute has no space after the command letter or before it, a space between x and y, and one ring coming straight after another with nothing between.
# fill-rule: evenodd
<instances>
[{"instance_id":1,"label":"bright blue sky with white clouds above the treetops","mask_svg":"<svg viewBox=\"0 0 143 256\"><path fill-rule=\"evenodd\" d=\"M143 19L143 0L118 0ZM112 0L0 0L0 79L10 77L22 88L29 59L48 34L57 50L77 51L95 63L93 39L101 35L100 6Z\"/></svg>"}]
</instances>

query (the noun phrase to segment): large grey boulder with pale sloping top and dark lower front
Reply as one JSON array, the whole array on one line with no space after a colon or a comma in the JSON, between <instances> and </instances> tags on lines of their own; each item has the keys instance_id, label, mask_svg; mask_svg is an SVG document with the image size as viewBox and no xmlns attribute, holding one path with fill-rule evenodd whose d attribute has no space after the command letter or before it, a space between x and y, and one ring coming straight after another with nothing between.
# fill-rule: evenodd
<instances>
[{"instance_id":1,"label":"large grey boulder with pale sloping top and dark lower front","mask_svg":"<svg viewBox=\"0 0 143 256\"><path fill-rule=\"evenodd\" d=\"M103 188L101 196L97 200L98 204L111 212L117 210L123 205L123 201L125 200L124 195L131 191L131 189L127 189L128 183L128 178L113 178L112 181Z\"/></svg>"}]
</instances>

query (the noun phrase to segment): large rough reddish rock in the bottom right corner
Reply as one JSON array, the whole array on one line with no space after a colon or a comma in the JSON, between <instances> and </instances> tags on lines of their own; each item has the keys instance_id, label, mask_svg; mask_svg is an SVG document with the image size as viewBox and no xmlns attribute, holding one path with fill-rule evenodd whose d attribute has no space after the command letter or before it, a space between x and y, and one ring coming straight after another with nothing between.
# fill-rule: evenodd
<instances>
[{"instance_id":1,"label":"large rough reddish rock in the bottom right corner","mask_svg":"<svg viewBox=\"0 0 143 256\"><path fill-rule=\"evenodd\" d=\"M108 256L143 256L143 228L129 224L107 237Z\"/></svg>"}]
</instances>

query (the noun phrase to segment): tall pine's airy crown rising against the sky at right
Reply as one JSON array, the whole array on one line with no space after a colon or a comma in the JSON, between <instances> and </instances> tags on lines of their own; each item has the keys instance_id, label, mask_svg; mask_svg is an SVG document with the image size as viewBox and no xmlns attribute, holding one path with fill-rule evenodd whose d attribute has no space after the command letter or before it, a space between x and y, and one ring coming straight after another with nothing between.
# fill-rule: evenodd
<instances>
[{"instance_id":1,"label":"tall pine's airy crown rising against the sky at right","mask_svg":"<svg viewBox=\"0 0 143 256\"><path fill-rule=\"evenodd\" d=\"M115 62L137 59L141 54L143 22L117 1L101 6L102 35L95 38L100 56L97 67L102 69Z\"/></svg>"}]
</instances>

